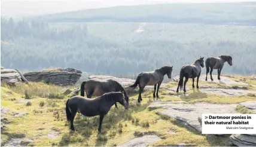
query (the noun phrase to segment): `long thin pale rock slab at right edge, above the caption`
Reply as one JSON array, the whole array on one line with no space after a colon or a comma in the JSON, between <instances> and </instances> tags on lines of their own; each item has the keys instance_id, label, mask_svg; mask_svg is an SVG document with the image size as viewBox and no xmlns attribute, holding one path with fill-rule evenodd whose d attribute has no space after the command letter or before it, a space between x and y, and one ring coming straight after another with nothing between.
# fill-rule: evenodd
<instances>
[{"instance_id":1,"label":"long thin pale rock slab at right edge, above the caption","mask_svg":"<svg viewBox=\"0 0 256 147\"><path fill-rule=\"evenodd\" d=\"M218 94L221 96L240 96L248 93L256 94L256 91L227 88L202 88L200 91L203 93Z\"/></svg>"}]
</instances>

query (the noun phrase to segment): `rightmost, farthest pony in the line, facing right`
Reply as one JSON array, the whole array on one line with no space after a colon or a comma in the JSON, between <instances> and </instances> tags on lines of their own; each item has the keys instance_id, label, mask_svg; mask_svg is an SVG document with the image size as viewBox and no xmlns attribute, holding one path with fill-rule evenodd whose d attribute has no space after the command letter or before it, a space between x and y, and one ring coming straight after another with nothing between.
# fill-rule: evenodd
<instances>
[{"instance_id":1,"label":"rightmost, farthest pony in the line, facing right","mask_svg":"<svg viewBox=\"0 0 256 147\"><path fill-rule=\"evenodd\" d=\"M221 76L221 70L223 69L224 63L227 62L228 65L232 66L232 57L231 56L226 56L226 55L221 55L218 57L208 57L205 60L205 66L206 66L206 78L205 81L207 81L207 75L210 72L211 75L211 80L214 81L212 78L212 71L214 69L218 69L218 79L220 80ZM211 69L211 71L210 71Z\"/></svg>"}]
</instances>

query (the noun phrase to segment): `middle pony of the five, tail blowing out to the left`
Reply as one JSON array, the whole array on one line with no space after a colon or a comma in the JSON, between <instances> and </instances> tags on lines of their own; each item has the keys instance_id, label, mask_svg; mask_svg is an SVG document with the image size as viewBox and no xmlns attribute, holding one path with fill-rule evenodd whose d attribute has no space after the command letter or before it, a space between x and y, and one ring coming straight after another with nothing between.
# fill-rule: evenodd
<instances>
[{"instance_id":1,"label":"middle pony of the five, tail blowing out to the left","mask_svg":"<svg viewBox=\"0 0 256 147\"><path fill-rule=\"evenodd\" d=\"M173 66L172 66L173 67ZM133 85L129 87L135 88L139 85L139 97L138 102L141 103L142 97L141 93L144 90L146 85L154 85L153 97L156 97L156 88L157 88L157 98L159 98L159 87L163 81L164 75L167 75L170 79L172 77L172 67L163 66L160 69L156 69L151 72L141 72L136 78L136 81Z\"/></svg>"}]
</instances>

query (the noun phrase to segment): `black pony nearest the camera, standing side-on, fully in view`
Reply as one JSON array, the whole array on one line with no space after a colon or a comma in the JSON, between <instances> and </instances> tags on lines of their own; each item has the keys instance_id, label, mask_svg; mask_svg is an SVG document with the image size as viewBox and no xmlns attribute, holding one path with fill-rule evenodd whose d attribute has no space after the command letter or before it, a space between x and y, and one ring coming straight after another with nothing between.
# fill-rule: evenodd
<instances>
[{"instance_id":1,"label":"black pony nearest the camera, standing side-on, fully in view","mask_svg":"<svg viewBox=\"0 0 256 147\"><path fill-rule=\"evenodd\" d=\"M129 109L123 92L110 92L95 99L89 99L83 96L73 96L66 101L66 119L71 123L71 130L75 131L74 118L78 113L85 117L94 117L99 115L99 133L102 131L102 120L108 114L110 108L115 103L120 103L125 109Z\"/></svg>"}]
</instances>

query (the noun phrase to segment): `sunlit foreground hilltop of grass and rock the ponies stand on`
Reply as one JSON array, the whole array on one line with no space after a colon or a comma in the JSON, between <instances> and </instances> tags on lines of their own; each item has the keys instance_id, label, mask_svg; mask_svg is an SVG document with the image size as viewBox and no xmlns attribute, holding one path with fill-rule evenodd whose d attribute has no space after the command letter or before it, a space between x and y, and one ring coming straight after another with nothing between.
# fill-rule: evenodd
<instances>
[{"instance_id":1,"label":"sunlit foreground hilltop of grass and rock the ponies stand on","mask_svg":"<svg viewBox=\"0 0 256 147\"><path fill-rule=\"evenodd\" d=\"M232 139L239 136L203 135L197 116L202 112L256 112L255 76L225 75L215 82L202 78L199 90L192 90L189 80L185 96L173 91L176 85L172 81L160 87L158 100L153 99L152 90L146 90L141 104L136 103L138 93L130 93L129 110L119 103L117 109L113 106L103 120L103 133L97 134L99 117L77 114L77 131L65 126L65 102L70 97L62 94L65 87L1 83L1 146L231 146ZM189 120L190 128L184 126L183 119Z\"/></svg>"}]
</instances>

